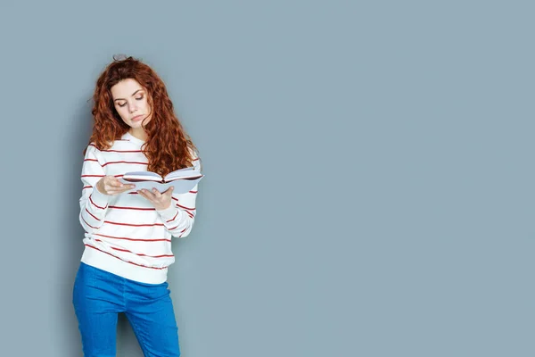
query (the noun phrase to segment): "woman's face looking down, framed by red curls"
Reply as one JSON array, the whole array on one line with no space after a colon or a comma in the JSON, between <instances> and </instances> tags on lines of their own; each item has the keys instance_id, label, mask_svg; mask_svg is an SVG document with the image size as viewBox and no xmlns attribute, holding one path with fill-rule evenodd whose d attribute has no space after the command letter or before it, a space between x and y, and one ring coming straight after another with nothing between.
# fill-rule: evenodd
<instances>
[{"instance_id":1,"label":"woman's face looking down, framed by red curls","mask_svg":"<svg viewBox=\"0 0 535 357\"><path fill-rule=\"evenodd\" d=\"M147 92L136 79L123 79L111 87L111 97L115 110L130 128L142 129L151 120Z\"/></svg>"}]
</instances>

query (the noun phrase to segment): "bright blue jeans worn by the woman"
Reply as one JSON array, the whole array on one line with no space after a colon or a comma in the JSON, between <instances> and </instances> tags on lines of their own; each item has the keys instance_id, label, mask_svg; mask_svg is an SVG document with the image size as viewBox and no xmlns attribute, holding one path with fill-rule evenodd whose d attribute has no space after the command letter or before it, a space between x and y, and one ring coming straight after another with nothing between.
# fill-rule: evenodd
<instances>
[{"instance_id":1,"label":"bright blue jeans worn by the woman","mask_svg":"<svg viewBox=\"0 0 535 357\"><path fill-rule=\"evenodd\" d=\"M80 262L72 303L85 357L115 357L124 312L145 357L178 357L178 328L168 283L144 284Z\"/></svg>"}]
</instances>

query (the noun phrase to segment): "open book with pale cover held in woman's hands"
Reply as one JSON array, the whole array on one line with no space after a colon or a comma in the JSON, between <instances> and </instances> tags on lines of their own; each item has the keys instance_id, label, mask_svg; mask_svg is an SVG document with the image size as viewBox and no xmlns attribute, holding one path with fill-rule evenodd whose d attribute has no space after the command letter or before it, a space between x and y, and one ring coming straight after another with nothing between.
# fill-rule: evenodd
<instances>
[{"instance_id":1,"label":"open book with pale cover held in woman's hands","mask_svg":"<svg viewBox=\"0 0 535 357\"><path fill-rule=\"evenodd\" d=\"M158 191L164 192L171 186L175 187L173 189L174 194L185 194L195 187L203 177L204 175L202 175L201 171L189 167L169 172L164 178L151 171L127 172L119 181L123 184L136 185L136 188L125 191L126 194L136 192L142 188L148 190L156 188Z\"/></svg>"}]
</instances>

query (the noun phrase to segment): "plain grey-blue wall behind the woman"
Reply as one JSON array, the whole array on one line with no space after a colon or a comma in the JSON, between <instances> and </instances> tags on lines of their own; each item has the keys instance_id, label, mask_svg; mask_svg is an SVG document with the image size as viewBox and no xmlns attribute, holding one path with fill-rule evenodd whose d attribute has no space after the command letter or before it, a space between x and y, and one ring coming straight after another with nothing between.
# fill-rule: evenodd
<instances>
[{"instance_id":1,"label":"plain grey-blue wall behind the woman","mask_svg":"<svg viewBox=\"0 0 535 357\"><path fill-rule=\"evenodd\" d=\"M535 353L530 2L11 3L2 355L81 355L81 151L121 53L202 154L169 274L184 356Z\"/></svg>"}]
</instances>

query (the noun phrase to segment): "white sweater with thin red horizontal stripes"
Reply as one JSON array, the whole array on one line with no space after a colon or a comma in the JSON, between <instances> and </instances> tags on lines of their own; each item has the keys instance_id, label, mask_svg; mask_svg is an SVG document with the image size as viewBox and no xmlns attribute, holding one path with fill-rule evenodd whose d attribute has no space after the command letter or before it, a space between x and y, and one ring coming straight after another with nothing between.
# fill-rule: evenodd
<instances>
[{"instance_id":1,"label":"white sweater with thin red horizontal stripes","mask_svg":"<svg viewBox=\"0 0 535 357\"><path fill-rule=\"evenodd\" d=\"M123 278L160 284L175 262L171 237L186 237L193 228L197 186L189 193L173 194L164 211L155 210L136 192L104 195L95 187L106 175L120 178L129 171L147 170L143 144L127 133L108 150L87 146L79 200L79 220L86 231L81 261ZM199 168L198 158L193 166Z\"/></svg>"}]
</instances>

